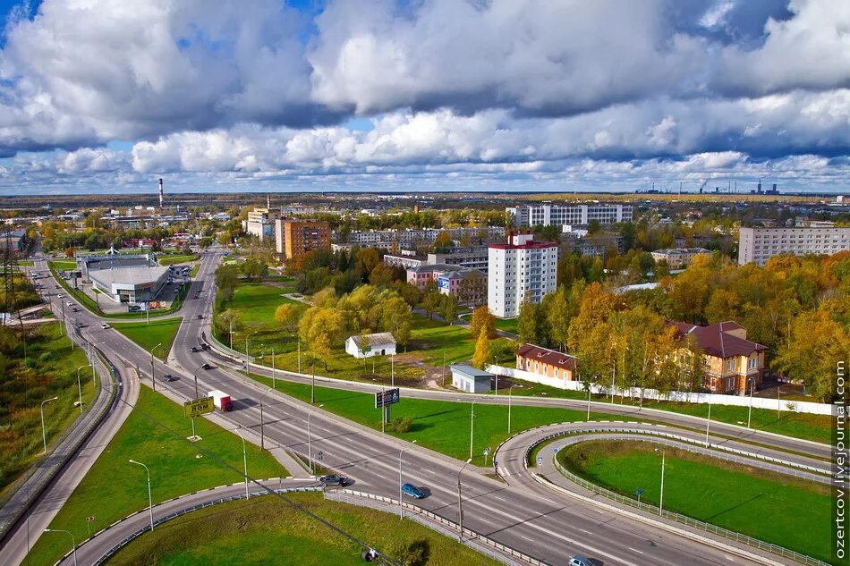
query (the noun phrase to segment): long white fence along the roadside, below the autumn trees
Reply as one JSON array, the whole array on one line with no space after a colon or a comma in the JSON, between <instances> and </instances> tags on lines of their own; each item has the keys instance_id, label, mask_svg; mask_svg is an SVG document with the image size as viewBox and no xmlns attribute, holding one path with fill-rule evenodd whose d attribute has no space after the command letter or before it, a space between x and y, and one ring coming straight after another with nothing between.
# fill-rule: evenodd
<instances>
[{"instance_id":1,"label":"long white fence along the roadside, below the autumn trees","mask_svg":"<svg viewBox=\"0 0 850 566\"><path fill-rule=\"evenodd\" d=\"M524 381L531 381L535 384L549 385L557 389L565 389L570 391L585 391L584 382L582 381L566 381L565 379L556 379L555 377L540 376L530 371L516 369L514 367L504 366L488 366L487 371L491 374L499 376L515 377ZM611 389L605 384L591 384L593 393L611 394ZM616 395L625 394L626 397L639 398L641 396L640 387L633 387L631 391L620 391L615 389ZM796 413L812 413L814 415L832 415L833 406L829 403L813 403L812 401L785 401L783 399L766 399L764 397L749 397L738 395L718 395L717 393L688 393L682 391L672 391L666 395L661 395L654 389L644 389L643 399L659 400L659 401L682 401L689 403L711 403L713 405L733 405L737 407L749 407L752 402L754 409L769 409L769 410L784 410Z\"/></svg>"}]
</instances>

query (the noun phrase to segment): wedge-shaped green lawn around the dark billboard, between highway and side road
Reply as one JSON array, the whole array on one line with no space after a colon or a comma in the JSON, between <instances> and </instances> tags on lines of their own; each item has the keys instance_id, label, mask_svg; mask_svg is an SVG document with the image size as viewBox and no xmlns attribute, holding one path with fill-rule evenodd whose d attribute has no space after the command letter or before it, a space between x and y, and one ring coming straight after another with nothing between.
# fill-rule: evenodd
<instances>
[{"instance_id":1,"label":"wedge-shaped green lawn around the dark billboard, between highway and side road","mask_svg":"<svg viewBox=\"0 0 850 566\"><path fill-rule=\"evenodd\" d=\"M271 385L268 377L251 377ZM292 395L302 401L310 401L310 385L277 381L277 390ZM458 393L463 399L464 393ZM374 428L381 429L380 411L375 409L373 393L356 393L327 387L316 387L316 404L324 404L324 409L337 415ZM427 401L423 399L404 399L393 406L390 418L410 417L412 428L407 433L389 433L398 438L442 452L458 460L469 458L471 403L453 401ZM516 406L511 410L511 429L513 432L540 427L551 423L583 421L587 413L582 410L553 409L548 407ZM608 415L591 412L591 419L606 418ZM475 428L473 431L472 453L474 464L484 465L483 449L490 453L507 438L507 407L500 405L475 406ZM492 464L492 460L488 460Z\"/></svg>"}]
</instances>

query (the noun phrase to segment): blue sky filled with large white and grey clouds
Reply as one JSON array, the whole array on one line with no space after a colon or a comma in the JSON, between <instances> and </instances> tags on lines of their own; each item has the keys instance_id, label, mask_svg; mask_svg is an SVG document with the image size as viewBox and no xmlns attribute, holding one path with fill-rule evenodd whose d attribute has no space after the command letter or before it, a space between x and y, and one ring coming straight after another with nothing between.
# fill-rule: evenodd
<instances>
[{"instance_id":1,"label":"blue sky filled with large white and grey clouds","mask_svg":"<svg viewBox=\"0 0 850 566\"><path fill-rule=\"evenodd\" d=\"M215 9L210 9L211 5ZM0 0L0 193L850 192L847 0Z\"/></svg>"}]
</instances>

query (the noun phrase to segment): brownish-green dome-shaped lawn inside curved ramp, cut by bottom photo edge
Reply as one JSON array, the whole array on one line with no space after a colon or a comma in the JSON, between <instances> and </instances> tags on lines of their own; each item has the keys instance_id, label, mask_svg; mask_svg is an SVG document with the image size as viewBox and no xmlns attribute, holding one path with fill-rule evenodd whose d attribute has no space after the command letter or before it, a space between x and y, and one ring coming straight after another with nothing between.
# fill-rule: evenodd
<instances>
[{"instance_id":1,"label":"brownish-green dome-shaped lawn inside curved ramp, cut by bottom photo edge","mask_svg":"<svg viewBox=\"0 0 850 566\"><path fill-rule=\"evenodd\" d=\"M429 564L484 566L498 562L412 520L321 494L286 494L345 532L400 563L409 545L427 548ZM272 496L222 503L183 515L124 547L107 564L270 564L358 566L361 546ZM238 556L238 559L237 559ZM417 562L420 563L420 562ZM424 562L421 562L424 563Z\"/></svg>"}]
</instances>

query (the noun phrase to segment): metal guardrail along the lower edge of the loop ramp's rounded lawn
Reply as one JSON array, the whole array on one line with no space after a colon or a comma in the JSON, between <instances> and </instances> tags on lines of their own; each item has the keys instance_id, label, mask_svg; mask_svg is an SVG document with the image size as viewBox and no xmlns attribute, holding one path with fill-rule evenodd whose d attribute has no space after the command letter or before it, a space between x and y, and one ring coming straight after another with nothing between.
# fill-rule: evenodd
<instances>
[{"instance_id":1,"label":"metal guardrail along the lower edge of the loop ramp's rounded lawn","mask_svg":"<svg viewBox=\"0 0 850 566\"><path fill-rule=\"evenodd\" d=\"M598 431L597 431L598 432ZM550 435L549 438L562 436L562 435ZM545 442L547 439L543 439L540 442ZM540 444L540 443L536 443ZM535 444L535 445L536 445ZM529 449L531 452L531 448ZM633 507L639 511L644 511L647 513L651 513L652 515L663 517L667 520L676 521L676 523L683 524L690 528L695 528L701 530L703 532L712 533L714 535L722 536L727 538L728 540L733 540L737 543L743 543L744 545L752 546L753 548L757 548L762 551L766 551L769 553L776 554L778 556L782 556L783 558L791 559L795 562L799 562L801 564L806 564L807 566L829 566L829 563L822 562L816 558L812 558L812 556L808 556L803 553L797 553L793 550L787 549L784 546L774 545L772 543L766 543L758 538L754 538L752 536L744 535L742 533L738 533L733 530L729 530L727 528L718 527L717 525L712 525L705 521L695 520L691 517L687 517L686 515L682 515L681 513L676 513L673 511L660 511L656 505L651 505L650 503L638 502L637 500L628 497L626 495L617 494L609 489L606 489L601 486L597 486L582 477L576 476L573 472L565 469L555 460L555 468L559 473L561 473L564 477L569 479L571 482L576 484L577 486L581 486L584 489L590 491L594 494L602 495L616 503L622 503Z\"/></svg>"}]
</instances>

